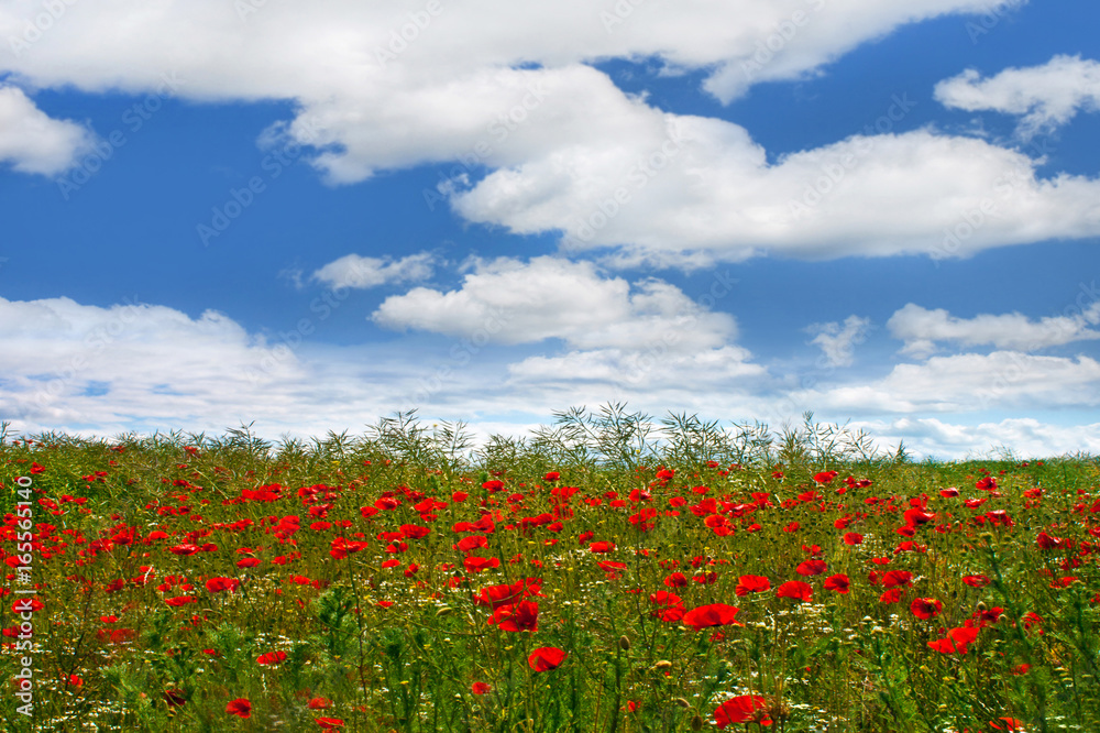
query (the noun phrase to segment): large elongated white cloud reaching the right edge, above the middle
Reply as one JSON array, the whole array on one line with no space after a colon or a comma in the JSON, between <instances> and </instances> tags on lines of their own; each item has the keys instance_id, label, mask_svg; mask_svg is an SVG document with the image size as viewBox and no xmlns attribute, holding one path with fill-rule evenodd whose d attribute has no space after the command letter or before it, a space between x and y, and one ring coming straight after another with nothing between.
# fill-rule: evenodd
<instances>
[{"instance_id":1,"label":"large elongated white cloud reaching the right edge, above the middle","mask_svg":"<svg viewBox=\"0 0 1100 733\"><path fill-rule=\"evenodd\" d=\"M662 157L669 140L685 142ZM620 264L667 265L769 252L969 256L1100 233L1097 201L1097 180L1038 180L1025 155L981 140L857 135L769 164L735 124L667 117L635 144L578 146L497 171L454 207L518 233L564 230L574 250L618 248Z\"/></svg>"}]
</instances>

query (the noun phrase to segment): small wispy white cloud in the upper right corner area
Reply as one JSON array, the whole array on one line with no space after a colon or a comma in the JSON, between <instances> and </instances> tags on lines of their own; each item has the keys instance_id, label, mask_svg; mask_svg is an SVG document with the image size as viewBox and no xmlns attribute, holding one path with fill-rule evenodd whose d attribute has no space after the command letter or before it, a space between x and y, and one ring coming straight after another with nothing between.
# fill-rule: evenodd
<instances>
[{"instance_id":1,"label":"small wispy white cloud in the upper right corner area","mask_svg":"<svg viewBox=\"0 0 1100 733\"><path fill-rule=\"evenodd\" d=\"M977 69L936 85L936 99L955 109L1019 114L1020 134L1065 124L1078 111L1100 108L1100 63L1080 56L1055 56L1042 66L1008 68L982 78Z\"/></svg>"}]
</instances>

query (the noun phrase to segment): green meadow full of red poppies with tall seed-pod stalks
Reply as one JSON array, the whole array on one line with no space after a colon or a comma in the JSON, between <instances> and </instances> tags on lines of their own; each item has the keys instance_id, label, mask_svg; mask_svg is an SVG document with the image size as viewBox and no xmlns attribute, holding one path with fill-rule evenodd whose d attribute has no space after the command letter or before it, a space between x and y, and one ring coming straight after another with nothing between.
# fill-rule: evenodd
<instances>
[{"instance_id":1,"label":"green meadow full of red poppies with tall seed-pod stalks","mask_svg":"<svg viewBox=\"0 0 1100 733\"><path fill-rule=\"evenodd\" d=\"M2 435L10 731L1100 730L1100 469L571 411Z\"/></svg>"}]
</instances>

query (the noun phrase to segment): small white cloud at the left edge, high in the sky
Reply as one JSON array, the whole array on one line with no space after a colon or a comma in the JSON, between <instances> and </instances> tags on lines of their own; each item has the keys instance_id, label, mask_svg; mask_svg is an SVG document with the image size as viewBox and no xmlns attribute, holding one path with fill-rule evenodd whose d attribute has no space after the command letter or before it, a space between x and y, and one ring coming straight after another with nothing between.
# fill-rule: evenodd
<instances>
[{"instance_id":1,"label":"small white cloud at the left edge, high in the sky","mask_svg":"<svg viewBox=\"0 0 1100 733\"><path fill-rule=\"evenodd\" d=\"M56 175L91 150L95 136L35 107L22 89L0 86L0 164L21 173Z\"/></svg>"}]
</instances>

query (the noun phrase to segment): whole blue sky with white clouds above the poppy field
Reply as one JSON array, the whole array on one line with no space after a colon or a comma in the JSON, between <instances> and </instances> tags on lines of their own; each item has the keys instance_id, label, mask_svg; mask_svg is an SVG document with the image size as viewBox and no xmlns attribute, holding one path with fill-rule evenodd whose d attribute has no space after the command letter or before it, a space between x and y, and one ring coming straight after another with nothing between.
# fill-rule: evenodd
<instances>
[{"instance_id":1,"label":"whole blue sky with white clouds above the poppy field","mask_svg":"<svg viewBox=\"0 0 1100 733\"><path fill-rule=\"evenodd\" d=\"M1100 450L1093 3L361 4L0 0L0 419Z\"/></svg>"}]
</instances>

